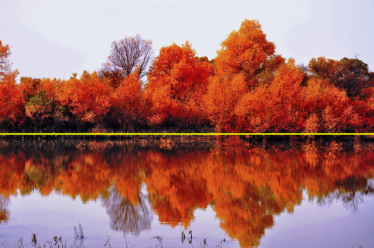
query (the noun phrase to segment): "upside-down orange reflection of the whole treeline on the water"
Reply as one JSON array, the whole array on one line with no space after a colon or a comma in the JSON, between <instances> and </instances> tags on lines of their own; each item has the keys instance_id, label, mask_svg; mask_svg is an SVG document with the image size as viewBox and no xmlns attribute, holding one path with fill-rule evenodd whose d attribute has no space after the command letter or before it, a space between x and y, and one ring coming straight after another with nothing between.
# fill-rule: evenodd
<instances>
[{"instance_id":1,"label":"upside-down orange reflection of the whole treeline on the water","mask_svg":"<svg viewBox=\"0 0 374 248\"><path fill-rule=\"evenodd\" d=\"M242 247L257 246L274 215L301 203L303 189L318 204L342 201L353 210L373 193L373 144L350 149L306 143L292 150L170 144L9 144L0 151L0 193L38 188L48 195L56 189L84 202L100 196L111 228L135 235L150 228L150 208L161 223L187 228L194 210L211 204L221 227ZM141 193L144 183L148 197Z\"/></svg>"}]
</instances>

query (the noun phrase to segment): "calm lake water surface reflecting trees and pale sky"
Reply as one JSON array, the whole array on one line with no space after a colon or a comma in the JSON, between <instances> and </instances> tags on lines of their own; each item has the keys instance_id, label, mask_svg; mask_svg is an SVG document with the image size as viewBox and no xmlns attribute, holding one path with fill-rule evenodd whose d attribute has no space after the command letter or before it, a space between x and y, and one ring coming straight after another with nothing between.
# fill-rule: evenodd
<instances>
[{"instance_id":1,"label":"calm lake water surface reflecting trees and pale sky","mask_svg":"<svg viewBox=\"0 0 374 248\"><path fill-rule=\"evenodd\" d=\"M374 247L373 143L0 141L0 175L0 247Z\"/></svg>"}]
</instances>

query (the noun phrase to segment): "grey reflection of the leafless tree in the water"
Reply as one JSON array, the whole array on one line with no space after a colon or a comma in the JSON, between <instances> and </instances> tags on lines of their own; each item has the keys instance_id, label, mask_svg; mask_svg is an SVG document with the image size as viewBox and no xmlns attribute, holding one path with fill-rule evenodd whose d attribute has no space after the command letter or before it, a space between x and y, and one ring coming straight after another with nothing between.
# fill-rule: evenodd
<instances>
[{"instance_id":1,"label":"grey reflection of the leafless tree in the water","mask_svg":"<svg viewBox=\"0 0 374 248\"><path fill-rule=\"evenodd\" d=\"M102 204L107 209L110 218L110 228L122 230L123 233L134 233L140 235L142 230L151 228L153 213L148 204L148 196L138 194L138 204L134 205L128 199L122 197L116 186L109 188L109 198L102 199Z\"/></svg>"}]
</instances>

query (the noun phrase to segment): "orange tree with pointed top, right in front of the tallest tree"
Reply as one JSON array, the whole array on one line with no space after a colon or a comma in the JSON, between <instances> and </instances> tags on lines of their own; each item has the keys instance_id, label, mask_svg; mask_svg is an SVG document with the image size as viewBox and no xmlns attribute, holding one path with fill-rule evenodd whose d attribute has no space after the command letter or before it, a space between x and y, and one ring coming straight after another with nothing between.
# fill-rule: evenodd
<instances>
[{"instance_id":1,"label":"orange tree with pointed top, right in front of the tallest tree","mask_svg":"<svg viewBox=\"0 0 374 248\"><path fill-rule=\"evenodd\" d=\"M245 132L295 131L299 121L303 73L289 60L279 66L269 85L261 85L240 98L236 130Z\"/></svg>"}]
</instances>

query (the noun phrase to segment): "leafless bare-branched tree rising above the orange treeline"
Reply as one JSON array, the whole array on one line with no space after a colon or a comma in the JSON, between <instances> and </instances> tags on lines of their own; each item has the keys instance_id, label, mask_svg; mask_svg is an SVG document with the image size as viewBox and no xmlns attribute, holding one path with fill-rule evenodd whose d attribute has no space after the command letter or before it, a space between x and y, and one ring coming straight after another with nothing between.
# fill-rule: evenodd
<instances>
[{"instance_id":1,"label":"leafless bare-branched tree rising above the orange treeline","mask_svg":"<svg viewBox=\"0 0 374 248\"><path fill-rule=\"evenodd\" d=\"M140 79L148 75L148 65L154 56L151 45L152 41L144 40L140 35L113 41L108 60L99 71L100 76L120 81L133 72L137 72Z\"/></svg>"}]
</instances>

